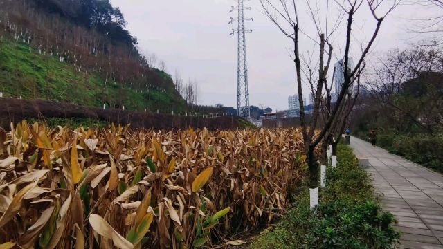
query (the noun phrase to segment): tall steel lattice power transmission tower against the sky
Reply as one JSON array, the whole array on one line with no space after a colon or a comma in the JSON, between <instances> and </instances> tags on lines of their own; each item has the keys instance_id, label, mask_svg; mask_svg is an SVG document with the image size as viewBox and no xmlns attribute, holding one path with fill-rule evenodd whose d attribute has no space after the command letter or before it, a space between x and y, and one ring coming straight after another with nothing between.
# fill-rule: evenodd
<instances>
[{"instance_id":1,"label":"tall steel lattice power transmission tower against the sky","mask_svg":"<svg viewBox=\"0 0 443 249\"><path fill-rule=\"evenodd\" d=\"M237 10L237 18L230 18L229 24L237 21L237 29L233 29L230 35L237 33L237 114L242 118L249 118L251 115L249 110L249 86L248 86L248 66L246 63L246 33L251 33L252 30L246 30L244 27L245 21L253 21L253 18L245 18L244 10L251 10L251 7L245 7L244 2L249 0L237 0L238 6L232 6L230 12Z\"/></svg>"}]
</instances>

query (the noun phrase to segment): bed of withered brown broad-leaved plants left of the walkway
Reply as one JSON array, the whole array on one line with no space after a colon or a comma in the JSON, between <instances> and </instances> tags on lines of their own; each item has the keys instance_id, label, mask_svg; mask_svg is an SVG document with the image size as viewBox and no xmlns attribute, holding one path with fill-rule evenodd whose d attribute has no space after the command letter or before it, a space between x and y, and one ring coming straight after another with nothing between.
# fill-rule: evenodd
<instances>
[{"instance_id":1,"label":"bed of withered brown broad-leaved plants left of the walkway","mask_svg":"<svg viewBox=\"0 0 443 249\"><path fill-rule=\"evenodd\" d=\"M305 176L288 130L0 128L0 248L194 248L271 223Z\"/></svg>"}]
</instances>

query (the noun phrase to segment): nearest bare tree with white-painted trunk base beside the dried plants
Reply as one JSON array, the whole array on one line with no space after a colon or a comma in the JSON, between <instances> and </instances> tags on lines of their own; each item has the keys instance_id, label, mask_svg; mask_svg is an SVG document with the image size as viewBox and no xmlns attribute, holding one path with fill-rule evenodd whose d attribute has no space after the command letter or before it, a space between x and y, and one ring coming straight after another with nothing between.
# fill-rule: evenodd
<instances>
[{"instance_id":1,"label":"nearest bare tree with white-painted trunk base beside the dried plants","mask_svg":"<svg viewBox=\"0 0 443 249\"><path fill-rule=\"evenodd\" d=\"M372 44L374 43L375 38L379 33L379 29L386 15L388 15L394 8L397 6L398 1L393 1L389 5L388 8L385 8L383 13L379 13L379 9L383 8L384 1L379 0L354 0L354 1L341 1L335 0L333 3L325 4L325 20L320 19L320 15L318 15L319 8L311 7L311 1L306 1L307 8L311 14L311 21L314 23L316 27L316 36L317 38L311 38L307 36L305 30L300 29L300 20L299 19L299 8L300 1L296 0L260 0L262 4L264 14L271 19L271 21L278 27L278 29L293 43L293 62L296 66L296 83L298 89L298 100L300 102L300 125L302 129L302 136L305 143L305 153L307 154L307 163L309 166L309 185L311 188L316 188L318 185L318 156L315 154L315 149L317 145L323 140L327 133L330 132L334 123L339 123L339 118L342 118L341 115L345 108L343 108L343 104L345 102L345 96L348 93L350 87L353 86L354 81L359 78L361 74L361 68L364 64L364 59L366 55L368 55ZM316 1L318 4L319 2ZM357 12L361 8L367 8L371 13L375 23L374 30L370 31L371 36L370 40L367 44L361 45L362 52L356 60L356 64L354 67L350 66L350 49L353 44L353 33L352 28L354 24L354 19L359 16L356 15ZM336 21L332 22L332 27L328 26L329 22L329 10L338 8L341 10ZM344 63L343 63L343 71L344 71L344 82L340 93L338 93L338 98L335 106L330 110L328 116L325 117L325 121L323 123L319 122L320 119L320 106L321 100L323 96L323 91L325 91L325 86L327 85L327 74L329 71L329 64L332 59L332 35L334 35L335 31L341 27L342 18L346 19L345 21L345 39L344 39L344 48L345 52L343 55ZM315 66L302 65L300 56L300 35L306 35L309 40L314 43L314 47L318 49L318 60L315 62ZM336 39L339 40L339 39ZM309 44L312 45L312 44ZM343 44L342 44L343 45ZM314 54L314 50L311 50L311 54ZM316 68L318 70L317 73L312 73L311 77L302 76L302 71L309 72L313 71ZM308 73L309 75L309 73ZM303 82L309 82L309 86L311 88L312 93L314 93L314 109L311 117L311 121L309 124L305 118L305 103L303 102ZM316 132L316 129L318 131ZM325 151L323 151L325 153Z\"/></svg>"}]
</instances>

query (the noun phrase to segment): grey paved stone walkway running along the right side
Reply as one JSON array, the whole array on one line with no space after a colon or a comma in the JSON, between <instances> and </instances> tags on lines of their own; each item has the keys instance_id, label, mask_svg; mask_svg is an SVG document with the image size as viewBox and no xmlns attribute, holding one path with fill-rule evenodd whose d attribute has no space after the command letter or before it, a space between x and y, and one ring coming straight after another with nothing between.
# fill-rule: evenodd
<instances>
[{"instance_id":1,"label":"grey paved stone walkway running along the right side","mask_svg":"<svg viewBox=\"0 0 443 249\"><path fill-rule=\"evenodd\" d=\"M383 209L397 217L398 248L443 248L443 176L359 138L351 146L369 159Z\"/></svg>"}]
</instances>

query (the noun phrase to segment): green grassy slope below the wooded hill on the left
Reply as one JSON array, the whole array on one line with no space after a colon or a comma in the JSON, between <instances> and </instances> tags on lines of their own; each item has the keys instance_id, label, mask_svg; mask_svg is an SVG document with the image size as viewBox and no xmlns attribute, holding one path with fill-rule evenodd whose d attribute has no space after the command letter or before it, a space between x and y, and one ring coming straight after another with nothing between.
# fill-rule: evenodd
<instances>
[{"instance_id":1,"label":"green grassy slope below the wooded hill on the left","mask_svg":"<svg viewBox=\"0 0 443 249\"><path fill-rule=\"evenodd\" d=\"M159 77L169 81L170 75L156 71ZM55 100L91 107L121 107L161 113L183 112L186 102L173 90L131 89L129 84L107 81L98 73L76 71L72 64L58 58L43 55L28 44L0 39L0 91L4 97ZM149 85L149 82L148 82Z\"/></svg>"}]
</instances>

